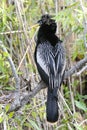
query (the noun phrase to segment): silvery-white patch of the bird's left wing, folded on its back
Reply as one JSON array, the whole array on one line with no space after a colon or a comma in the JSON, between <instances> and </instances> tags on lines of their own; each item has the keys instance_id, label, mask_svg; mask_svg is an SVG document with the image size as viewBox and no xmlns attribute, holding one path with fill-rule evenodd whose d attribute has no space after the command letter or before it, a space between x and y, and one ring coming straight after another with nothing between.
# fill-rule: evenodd
<instances>
[{"instance_id":1,"label":"silvery-white patch of the bird's left wing, folded on its back","mask_svg":"<svg viewBox=\"0 0 87 130\"><path fill-rule=\"evenodd\" d=\"M52 46L48 41L38 45L36 50L36 60L44 73L49 77L49 55L52 52ZM41 75L41 74L40 74Z\"/></svg>"}]
</instances>

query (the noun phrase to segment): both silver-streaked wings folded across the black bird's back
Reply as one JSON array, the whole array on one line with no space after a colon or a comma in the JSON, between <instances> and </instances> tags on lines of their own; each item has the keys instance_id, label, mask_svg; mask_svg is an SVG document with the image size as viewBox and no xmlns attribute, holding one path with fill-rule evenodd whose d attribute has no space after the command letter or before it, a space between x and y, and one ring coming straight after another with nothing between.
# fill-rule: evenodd
<instances>
[{"instance_id":1,"label":"both silver-streaked wings folded across the black bird's back","mask_svg":"<svg viewBox=\"0 0 87 130\"><path fill-rule=\"evenodd\" d=\"M37 47L37 63L49 77L51 89L60 87L65 70L65 51L61 43L55 47L46 41Z\"/></svg>"}]
</instances>

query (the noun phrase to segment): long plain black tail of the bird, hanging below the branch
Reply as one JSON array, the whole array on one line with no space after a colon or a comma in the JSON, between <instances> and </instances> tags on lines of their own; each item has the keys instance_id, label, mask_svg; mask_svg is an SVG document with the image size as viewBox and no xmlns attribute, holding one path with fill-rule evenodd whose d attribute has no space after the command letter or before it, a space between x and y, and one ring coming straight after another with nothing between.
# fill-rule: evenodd
<instances>
[{"instance_id":1,"label":"long plain black tail of the bird, hanging below the branch","mask_svg":"<svg viewBox=\"0 0 87 130\"><path fill-rule=\"evenodd\" d=\"M54 88L52 91L48 88L47 93L47 121L50 123L55 123L58 120L58 96L57 96L57 88Z\"/></svg>"}]
</instances>

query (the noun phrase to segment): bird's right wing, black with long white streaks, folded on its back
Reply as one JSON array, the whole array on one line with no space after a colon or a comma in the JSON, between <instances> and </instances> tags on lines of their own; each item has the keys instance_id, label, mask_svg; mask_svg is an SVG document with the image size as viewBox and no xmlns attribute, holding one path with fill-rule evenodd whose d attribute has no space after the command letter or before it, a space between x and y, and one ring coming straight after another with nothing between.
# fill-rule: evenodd
<instances>
[{"instance_id":1,"label":"bird's right wing, black with long white streaks, folded on its back","mask_svg":"<svg viewBox=\"0 0 87 130\"><path fill-rule=\"evenodd\" d=\"M65 49L62 43L56 44L54 51L49 55L49 86L59 88L63 82L65 72ZM56 89L55 89L56 90Z\"/></svg>"}]
</instances>

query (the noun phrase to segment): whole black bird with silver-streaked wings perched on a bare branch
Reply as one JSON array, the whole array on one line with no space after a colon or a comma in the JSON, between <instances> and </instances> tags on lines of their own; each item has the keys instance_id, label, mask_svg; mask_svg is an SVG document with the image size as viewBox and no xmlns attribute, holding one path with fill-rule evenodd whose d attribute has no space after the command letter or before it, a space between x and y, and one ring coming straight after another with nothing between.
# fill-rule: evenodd
<instances>
[{"instance_id":1,"label":"whole black bird with silver-streaked wings perched on a bare branch","mask_svg":"<svg viewBox=\"0 0 87 130\"><path fill-rule=\"evenodd\" d=\"M55 35L56 22L48 14L38 21L40 28L35 48L35 63L41 79L47 84L47 121L58 120L58 88L63 82L65 72L65 50L62 41Z\"/></svg>"}]
</instances>

